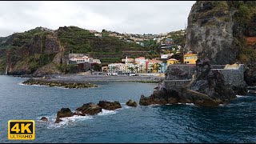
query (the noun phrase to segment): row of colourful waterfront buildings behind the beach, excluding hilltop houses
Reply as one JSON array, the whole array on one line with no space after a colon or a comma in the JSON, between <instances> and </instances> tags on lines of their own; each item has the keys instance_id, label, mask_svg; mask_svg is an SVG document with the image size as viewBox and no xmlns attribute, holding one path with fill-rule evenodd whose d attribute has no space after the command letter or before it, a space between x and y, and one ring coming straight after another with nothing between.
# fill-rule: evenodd
<instances>
[{"instance_id":1,"label":"row of colourful waterfront buildings behind the beach, excluding hilltop houses","mask_svg":"<svg viewBox=\"0 0 256 144\"><path fill-rule=\"evenodd\" d=\"M90 58L86 54L69 54L69 65L77 65L80 72L91 71L92 74L106 75L154 75L164 76L167 66L178 64L195 64L198 54L192 51L183 54L181 60L170 58L173 54L161 54L161 58L122 58L122 62L110 63L102 66L97 58ZM95 66L98 68L96 69Z\"/></svg>"}]
</instances>

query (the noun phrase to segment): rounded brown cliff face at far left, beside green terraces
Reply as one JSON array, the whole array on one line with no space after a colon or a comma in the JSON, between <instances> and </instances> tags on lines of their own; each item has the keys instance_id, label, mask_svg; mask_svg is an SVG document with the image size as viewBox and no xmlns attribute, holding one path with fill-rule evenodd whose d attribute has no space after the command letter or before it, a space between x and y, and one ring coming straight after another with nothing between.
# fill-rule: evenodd
<instances>
[{"instance_id":1,"label":"rounded brown cliff face at far left, beside green terraces","mask_svg":"<svg viewBox=\"0 0 256 144\"><path fill-rule=\"evenodd\" d=\"M40 28L26 31L21 34L13 34L2 43L5 50L0 57L6 61L8 74L34 74L38 68L55 62L60 64L61 58L54 58L62 53L58 38L53 32L41 30ZM62 55L62 54L61 54ZM5 59L4 59L5 58ZM57 71L57 67L51 69ZM35 74L36 75L36 74Z\"/></svg>"}]
</instances>

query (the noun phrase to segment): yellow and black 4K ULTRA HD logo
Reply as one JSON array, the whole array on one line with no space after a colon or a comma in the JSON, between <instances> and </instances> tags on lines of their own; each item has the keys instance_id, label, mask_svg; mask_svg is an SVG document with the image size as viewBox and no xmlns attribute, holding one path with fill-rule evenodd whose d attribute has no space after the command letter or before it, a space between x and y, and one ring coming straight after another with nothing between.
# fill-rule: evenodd
<instances>
[{"instance_id":1,"label":"yellow and black 4K ULTRA HD logo","mask_svg":"<svg viewBox=\"0 0 256 144\"><path fill-rule=\"evenodd\" d=\"M8 122L8 139L33 140L35 138L33 120L10 120Z\"/></svg>"}]
</instances>

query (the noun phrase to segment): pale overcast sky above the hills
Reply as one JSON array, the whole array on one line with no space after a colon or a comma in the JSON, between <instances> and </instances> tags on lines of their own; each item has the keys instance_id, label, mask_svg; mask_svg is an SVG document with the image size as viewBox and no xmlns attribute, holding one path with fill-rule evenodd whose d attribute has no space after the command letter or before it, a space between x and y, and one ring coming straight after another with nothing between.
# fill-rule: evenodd
<instances>
[{"instance_id":1,"label":"pale overcast sky above the hills","mask_svg":"<svg viewBox=\"0 0 256 144\"><path fill-rule=\"evenodd\" d=\"M161 34L184 29L194 2L0 2L0 36L37 26Z\"/></svg>"}]
</instances>

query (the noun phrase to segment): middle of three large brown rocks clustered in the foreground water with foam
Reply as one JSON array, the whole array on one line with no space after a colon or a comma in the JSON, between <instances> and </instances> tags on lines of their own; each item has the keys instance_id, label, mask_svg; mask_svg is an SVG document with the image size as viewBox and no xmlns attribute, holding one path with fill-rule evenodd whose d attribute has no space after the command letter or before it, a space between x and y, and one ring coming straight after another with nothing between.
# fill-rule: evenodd
<instances>
[{"instance_id":1,"label":"middle of three large brown rocks clustered in the foreground water with foam","mask_svg":"<svg viewBox=\"0 0 256 144\"><path fill-rule=\"evenodd\" d=\"M90 102L90 103L83 104L81 107L78 107L76 110L81 111L82 114L94 115L101 112L102 107Z\"/></svg>"}]
</instances>

